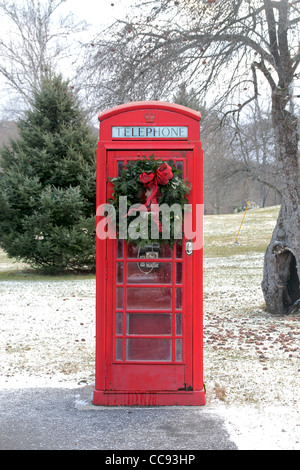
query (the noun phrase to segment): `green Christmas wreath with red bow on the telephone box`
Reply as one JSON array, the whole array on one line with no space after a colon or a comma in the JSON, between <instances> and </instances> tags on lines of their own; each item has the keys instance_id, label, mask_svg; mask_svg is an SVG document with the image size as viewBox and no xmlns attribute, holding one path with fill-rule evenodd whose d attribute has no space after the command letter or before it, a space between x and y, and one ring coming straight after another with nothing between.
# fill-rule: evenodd
<instances>
[{"instance_id":1,"label":"green Christmas wreath with red bow on the telephone box","mask_svg":"<svg viewBox=\"0 0 300 470\"><path fill-rule=\"evenodd\" d=\"M152 243L166 243L173 245L175 242L181 243L176 233L178 225L175 224L176 217L172 210L169 212L169 233L165 237L162 213L161 211L154 213L152 208L161 207L167 204L168 207L177 204L181 208L181 225L184 214L184 205L188 204L187 196L191 190L190 184L182 178L182 172L174 165L172 160L163 161L155 159L152 155L150 158L141 158L131 160L121 172L121 175L111 178L110 181L114 185L113 197L109 201L114 206L116 213L116 236L123 238L134 245L147 246ZM120 211L120 197L126 196L127 211ZM135 205L134 208L130 206ZM153 206L154 205L154 206ZM178 206L177 206L178 207ZM131 222L137 219L140 213L147 223L137 224L136 231L139 232L138 238L130 236ZM152 217L149 216L152 214ZM151 223L153 221L158 227L158 236L152 237ZM121 224L123 227L122 236L120 236ZM125 225L125 231L124 231ZM182 229L182 227L181 227ZM126 236L124 236L124 233ZM166 240L167 238L167 240Z\"/></svg>"}]
</instances>

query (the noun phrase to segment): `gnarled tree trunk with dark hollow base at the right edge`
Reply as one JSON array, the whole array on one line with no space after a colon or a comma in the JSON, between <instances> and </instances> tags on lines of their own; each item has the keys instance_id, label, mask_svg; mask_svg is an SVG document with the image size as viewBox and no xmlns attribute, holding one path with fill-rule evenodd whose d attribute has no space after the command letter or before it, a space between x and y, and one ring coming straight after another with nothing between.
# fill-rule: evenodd
<instances>
[{"instance_id":1,"label":"gnarled tree trunk with dark hollow base at the right edge","mask_svg":"<svg viewBox=\"0 0 300 470\"><path fill-rule=\"evenodd\" d=\"M272 116L278 146L282 205L264 262L262 289L267 310L300 312L300 189L297 119L285 109L288 96L276 90Z\"/></svg>"}]
</instances>

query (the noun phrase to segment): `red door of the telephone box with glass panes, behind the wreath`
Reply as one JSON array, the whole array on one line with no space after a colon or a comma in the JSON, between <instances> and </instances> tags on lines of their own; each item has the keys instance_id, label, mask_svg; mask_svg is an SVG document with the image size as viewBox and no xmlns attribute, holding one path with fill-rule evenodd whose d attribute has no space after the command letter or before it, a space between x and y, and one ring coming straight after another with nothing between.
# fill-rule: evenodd
<instances>
[{"instance_id":1,"label":"red door of the telephone box with glass panes, behind the wreath","mask_svg":"<svg viewBox=\"0 0 300 470\"><path fill-rule=\"evenodd\" d=\"M133 158L132 151L109 151L108 176L118 176ZM156 151L155 158L172 159L183 178L192 175L191 151ZM193 256L186 242L141 249L107 239L107 318L113 321L107 321L106 390L192 389Z\"/></svg>"}]
</instances>

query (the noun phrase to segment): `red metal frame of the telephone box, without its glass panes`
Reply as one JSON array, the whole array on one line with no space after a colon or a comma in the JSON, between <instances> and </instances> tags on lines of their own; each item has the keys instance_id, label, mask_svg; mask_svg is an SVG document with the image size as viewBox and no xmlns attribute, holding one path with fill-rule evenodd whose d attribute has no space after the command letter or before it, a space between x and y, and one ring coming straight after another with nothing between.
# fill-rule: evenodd
<instances>
[{"instance_id":1,"label":"red metal frame of the telephone box, without its glass panes","mask_svg":"<svg viewBox=\"0 0 300 470\"><path fill-rule=\"evenodd\" d=\"M154 116L154 119L153 119ZM181 160L186 176L192 182L190 203L193 207L202 204L202 149L200 144L200 113L188 108L159 102L138 102L122 105L102 113L100 141L97 153L97 207L107 202L112 186L108 177L116 176L117 161L136 159L154 154L157 158ZM152 120L145 124L145 120ZM112 138L112 126L187 126L189 139L126 139ZM195 211L193 230L195 230ZM184 240L185 242L186 240ZM148 335L147 338L168 338L172 341L170 361L126 360L126 315L135 310L126 309L126 266L138 259L126 258L124 243L123 258L123 307L116 308L116 240L97 238L96 276L96 383L94 404L96 405L204 405L203 390L203 326L202 326L202 249L187 256L183 246L181 260L176 261L175 248L171 259L160 259L160 263L172 263L172 313L171 335ZM183 266L183 331L175 334L175 269L176 262ZM130 284L130 287L141 288ZM166 288L165 284L143 285L149 289ZM149 292L149 291L148 291ZM116 334L116 312L122 313L122 334ZM140 309L137 309L140 313ZM151 310L147 309L150 313ZM156 309L155 314L166 312ZM116 338L123 339L122 361L116 360ZM143 338L143 335L140 336ZM175 361L175 340L182 339L182 361Z\"/></svg>"}]
</instances>

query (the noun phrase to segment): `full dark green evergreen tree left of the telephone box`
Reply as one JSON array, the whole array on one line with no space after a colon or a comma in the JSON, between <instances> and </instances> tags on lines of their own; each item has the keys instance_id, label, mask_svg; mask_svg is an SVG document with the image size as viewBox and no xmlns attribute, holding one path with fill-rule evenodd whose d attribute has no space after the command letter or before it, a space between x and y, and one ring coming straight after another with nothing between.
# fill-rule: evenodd
<instances>
[{"instance_id":1,"label":"full dark green evergreen tree left of the telephone box","mask_svg":"<svg viewBox=\"0 0 300 470\"><path fill-rule=\"evenodd\" d=\"M1 150L0 245L50 272L95 268L96 136L61 77L45 80Z\"/></svg>"}]
</instances>

